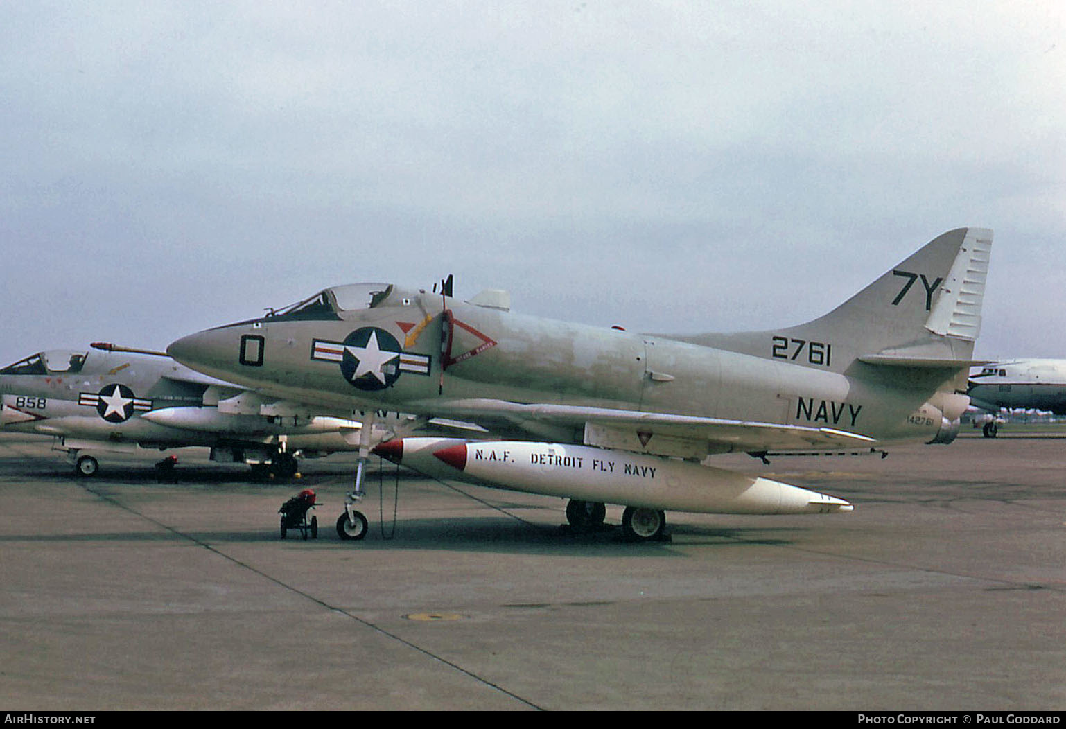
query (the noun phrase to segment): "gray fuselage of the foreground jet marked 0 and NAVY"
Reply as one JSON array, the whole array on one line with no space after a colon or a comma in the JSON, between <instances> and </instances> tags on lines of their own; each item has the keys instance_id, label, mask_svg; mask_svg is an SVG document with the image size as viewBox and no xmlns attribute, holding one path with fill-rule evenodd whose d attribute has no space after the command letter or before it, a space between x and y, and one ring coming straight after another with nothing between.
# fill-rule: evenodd
<instances>
[{"instance_id":1,"label":"gray fuselage of the foreground jet marked 0 and NAVY","mask_svg":"<svg viewBox=\"0 0 1066 729\"><path fill-rule=\"evenodd\" d=\"M842 373L782 361L770 356L773 346L768 338L768 356L757 357L388 287L370 307L264 317L192 335L168 352L275 395L446 417L456 402L487 399L910 441L930 440L966 406L965 398L944 400L921 372L856 360ZM376 375L359 371L371 359L381 362Z\"/></svg>"}]
</instances>

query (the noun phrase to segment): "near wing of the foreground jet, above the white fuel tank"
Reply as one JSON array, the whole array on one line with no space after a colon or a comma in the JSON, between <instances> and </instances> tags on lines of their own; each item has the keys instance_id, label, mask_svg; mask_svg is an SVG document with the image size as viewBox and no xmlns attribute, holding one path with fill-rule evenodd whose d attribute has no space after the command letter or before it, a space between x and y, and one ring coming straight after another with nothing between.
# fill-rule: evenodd
<instances>
[{"instance_id":1,"label":"near wing of the foreground jet, above the white fuel tank","mask_svg":"<svg viewBox=\"0 0 1066 729\"><path fill-rule=\"evenodd\" d=\"M549 403L473 399L451 401L445 408L448 416L469 418L490 431L497 431L501 420L534 434L544 426L583 427L588 444L663 455L837 451L871 448L877 442L858 433L831 427ZM438 411L446 415L439 407Z\"/></svg>"}]
</instances>

